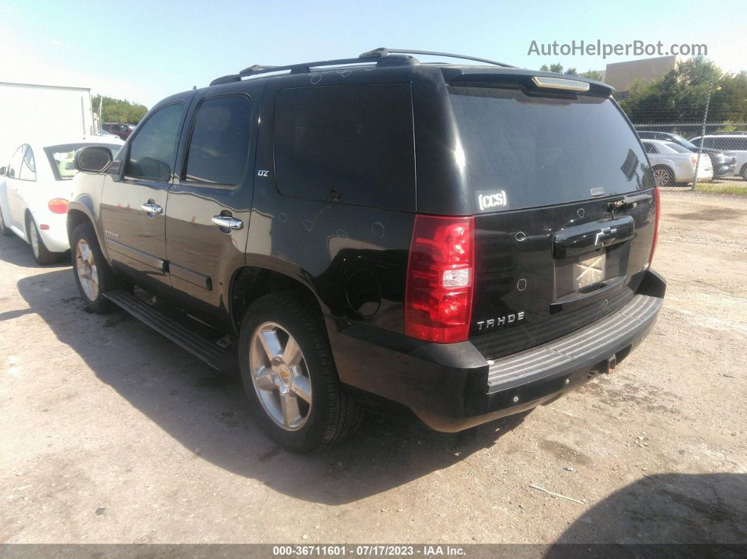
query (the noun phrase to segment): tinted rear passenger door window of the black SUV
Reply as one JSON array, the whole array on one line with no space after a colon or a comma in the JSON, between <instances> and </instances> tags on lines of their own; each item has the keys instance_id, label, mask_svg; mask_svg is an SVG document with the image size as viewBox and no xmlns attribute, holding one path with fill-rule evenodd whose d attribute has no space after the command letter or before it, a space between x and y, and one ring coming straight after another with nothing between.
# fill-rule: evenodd
<instances>
[{"instance_id":1,"label":"tinted rear passenger door window of the black SUV","mask_svg":"<svg viewBox=\"0 0 747 559\"><path fill-rule=\"evenodd\" d=\"M187 181L233 186L247 169L252 105L246 96L205 99L187 154Z\"/></svg>"}]
</instances>

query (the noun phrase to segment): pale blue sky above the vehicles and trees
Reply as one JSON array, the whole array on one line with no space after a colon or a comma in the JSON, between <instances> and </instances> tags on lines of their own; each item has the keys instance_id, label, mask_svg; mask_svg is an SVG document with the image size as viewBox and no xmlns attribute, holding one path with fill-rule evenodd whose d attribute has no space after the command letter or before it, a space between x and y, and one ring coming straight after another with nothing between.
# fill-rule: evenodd
<instances>
[{"instance_id":1,"label":"pale blue sky above the vehicles and trees","mask_svg":"<svg viewBox=\"0 0 747 559\"><path fill-rule=\"evenodd\" d=\"M746 16L745 0L2 0L0 81L90 87L151 107L255 63L356 57L379 46L579 72L640 58L528 54L532 41L573 40L704 44L722 69L739 72L747 70Z\"/></svg>"}]
</instances>

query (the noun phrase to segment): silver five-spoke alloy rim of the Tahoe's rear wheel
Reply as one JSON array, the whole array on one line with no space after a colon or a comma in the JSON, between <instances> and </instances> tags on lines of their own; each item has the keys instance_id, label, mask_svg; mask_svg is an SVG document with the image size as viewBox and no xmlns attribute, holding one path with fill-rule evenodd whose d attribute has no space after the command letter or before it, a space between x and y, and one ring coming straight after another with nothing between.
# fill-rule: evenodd
<instances>
[{"instance_id":1,"label":"silver five-spoke alloy rim of the Tahoe's rear wheel","mask_svg":"<svg viewBox=\"0 0 747 559\"><path fill-rule=\"evenodd\" d=\"M311 413L309 367L298 343L276 322L263 322L249 341L249 372L265 413L298 431Z\"/></svg>"}]
</instances>

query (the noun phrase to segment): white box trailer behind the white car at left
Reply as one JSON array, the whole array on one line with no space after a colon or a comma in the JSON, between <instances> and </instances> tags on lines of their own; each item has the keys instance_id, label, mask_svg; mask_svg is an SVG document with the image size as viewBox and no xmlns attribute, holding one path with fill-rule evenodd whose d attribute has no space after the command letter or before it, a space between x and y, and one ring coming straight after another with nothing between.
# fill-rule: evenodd
<instances>
[{"instance_id":1,"label":"white box trailer behind the white car at left","mask_svg":"<svg viewBox=\"0 0 747 559\"><path fill-rule=\"evenodd\" d=\"M69 140L94 133L89 87L0 81L0 161L34 138ZM0 164L3 164L0 163Z\"/></svg>"}]
</instances>

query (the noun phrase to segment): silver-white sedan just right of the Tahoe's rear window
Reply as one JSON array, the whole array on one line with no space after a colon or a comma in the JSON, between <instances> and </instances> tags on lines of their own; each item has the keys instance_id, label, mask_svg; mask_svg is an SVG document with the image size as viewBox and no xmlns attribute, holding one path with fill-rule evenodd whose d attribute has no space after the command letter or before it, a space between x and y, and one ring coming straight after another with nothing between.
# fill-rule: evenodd
<instances>
[{"instance_id":1,"label":"silver-white sedan just right of the Tahoe's rear window","mask_svg":"<svg viewBox=\"0 0 747 559\"><path fill-rule=\"evenodd\" d=\"M698 181L713 179L713 163L707 153L692 153L689 149L665 140L641 140L648 161L654 169L657 187L669 187L677 183L695 181L695 166L698 167ZM698 157L700 163L698 164Z\"/></svg>"}]
</instances>

